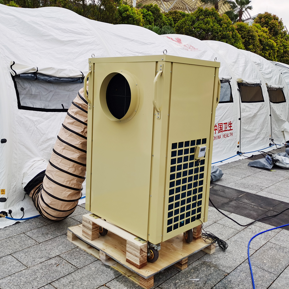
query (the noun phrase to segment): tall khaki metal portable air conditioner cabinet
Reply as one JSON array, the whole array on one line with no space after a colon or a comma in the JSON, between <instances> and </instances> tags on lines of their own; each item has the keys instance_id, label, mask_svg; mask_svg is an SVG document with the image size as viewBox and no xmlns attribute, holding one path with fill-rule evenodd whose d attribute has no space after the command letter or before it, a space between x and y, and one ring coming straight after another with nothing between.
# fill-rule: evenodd
<instances>
[{"instance_id":1,"label":"tall khaki metal portable air conditioner cabinet","mask_svg":"<svg viewBox=\"0 0 289 289\"><path fill-rule=\"evenodd\" d=\"M151 244L207 221L219 67L89 59L87 210Z\"/></svg>"}]
</instances>

